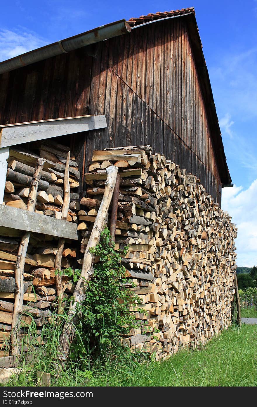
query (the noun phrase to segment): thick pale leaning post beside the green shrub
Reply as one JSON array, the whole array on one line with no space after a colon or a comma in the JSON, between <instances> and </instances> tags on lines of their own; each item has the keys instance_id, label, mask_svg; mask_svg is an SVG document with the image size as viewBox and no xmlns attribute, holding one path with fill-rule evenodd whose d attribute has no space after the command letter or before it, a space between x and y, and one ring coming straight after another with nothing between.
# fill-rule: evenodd
<instances>
[{"instance_id":1,"label":"thick pale leaning post beside the green shrub","mask_svg":"<svg viewBox=\"0 0 257 407\"><path fill-rule=\"evenodd\" d=\"M63 332L60 335L58 353L62 366L64 366L67 359L69 346L73 340L76 324L78 322L78 314L76 313L77 304L80 304L84 300L87 283L91 280L93 275L93 262L95 255L89 252L89 248L95 247L97 243L99 243L101 232L104 228L106 215L112 200L117 172L118 168L113 165L106 168L107 179L105 182L104 196L95 218L95 223L89 238L89 242L86 246L80 278L73 293L73 301L70 302L69 306L68 321L65 323Z\"/></svg>"}]
</instances>

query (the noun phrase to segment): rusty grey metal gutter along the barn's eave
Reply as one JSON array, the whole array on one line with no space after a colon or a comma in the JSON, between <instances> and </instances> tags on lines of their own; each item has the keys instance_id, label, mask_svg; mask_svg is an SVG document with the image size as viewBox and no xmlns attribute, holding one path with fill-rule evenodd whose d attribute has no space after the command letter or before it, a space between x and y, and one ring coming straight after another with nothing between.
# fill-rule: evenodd
<instances>
[{"instance_id":1,"label":"rusty grey metal gutter along the barn's eave","mask_svg":"<svg viewBox=\"0 0 257 407\"><path fill-rule=\"evenodd\" d=\"M0 62L0 74L130 32L131 27L125 19L106 24Z\"/></svg>"}]
</instances>

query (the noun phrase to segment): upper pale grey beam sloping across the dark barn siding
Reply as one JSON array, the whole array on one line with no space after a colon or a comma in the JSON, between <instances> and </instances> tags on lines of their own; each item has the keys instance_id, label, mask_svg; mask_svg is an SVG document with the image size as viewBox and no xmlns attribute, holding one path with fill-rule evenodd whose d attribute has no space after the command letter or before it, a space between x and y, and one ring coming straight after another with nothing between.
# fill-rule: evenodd
<instances>
[{"instance_id":1,"label":"upper pale grey beam sloping across the dark barn siding","mask_svg":"<svg viewBox=\"0 0 257 407\"><path fill-rule=\"evenodd\" d=\"M0 147L107 127L105 115L77 116L0 126Z\"/></svg>"}]
</instances>

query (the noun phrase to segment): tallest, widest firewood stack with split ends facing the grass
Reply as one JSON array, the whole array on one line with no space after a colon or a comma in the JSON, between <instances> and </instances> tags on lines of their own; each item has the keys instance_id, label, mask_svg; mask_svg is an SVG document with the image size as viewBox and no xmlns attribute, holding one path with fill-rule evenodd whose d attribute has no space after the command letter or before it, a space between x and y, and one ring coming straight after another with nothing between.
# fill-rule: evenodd
<instances>
[{"instance_id":1,"label":"tallest, widest firewood stack with split ends facing the grass","mask_svg":"<svg viewBox=\"0 0 257 407\"><path fill-rule=\"evenodd\" d=\"M123 344L156 352L157 359L205 344L231 324L235 225L196 176L150 146L94 151L78 212L82 253L109 165L121 176L115 247L129 245L122 263L142 301L138 328Z\"/></svg>"}]
</instances>

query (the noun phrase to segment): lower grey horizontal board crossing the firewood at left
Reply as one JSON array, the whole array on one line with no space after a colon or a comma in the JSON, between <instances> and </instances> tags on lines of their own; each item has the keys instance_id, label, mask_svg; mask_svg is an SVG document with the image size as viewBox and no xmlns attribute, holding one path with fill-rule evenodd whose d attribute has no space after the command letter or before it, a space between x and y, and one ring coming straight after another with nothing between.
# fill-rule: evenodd
<instances>
[{"instance_id":1,"label":"lower grey horizontal board crossing the firewood at left","mask_svg":"<svg viewBox=\"0 0 257 407\"><path fill-rule=\"evenodd\" d=\"M78 240L76 223L6 205L0 205L0 226Z\"/></svg>"}]
</instances>

